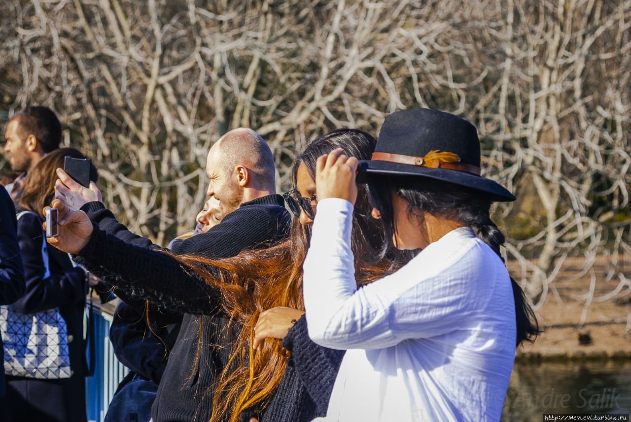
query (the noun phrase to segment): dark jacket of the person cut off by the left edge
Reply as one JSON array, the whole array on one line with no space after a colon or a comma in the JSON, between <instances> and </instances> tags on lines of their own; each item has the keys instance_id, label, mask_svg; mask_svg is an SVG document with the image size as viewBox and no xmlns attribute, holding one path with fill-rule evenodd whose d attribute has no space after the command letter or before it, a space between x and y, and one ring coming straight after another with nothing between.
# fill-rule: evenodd
<instances>
[{"instance_id":1,"label":"dark jacket of the person cut off by the left edge","mask_svg":"<svg viewBox=\"0 0 631 422\"><path fill-rule=\"evenodd\" d=\"M0 186L0 305L8 305L24 294L24 272L16 236L15 208L9 194ZM4 347L0 337L0 362ZM4 396L4 368L0 370L0 397Z\"/></svg>"}]
</instances>

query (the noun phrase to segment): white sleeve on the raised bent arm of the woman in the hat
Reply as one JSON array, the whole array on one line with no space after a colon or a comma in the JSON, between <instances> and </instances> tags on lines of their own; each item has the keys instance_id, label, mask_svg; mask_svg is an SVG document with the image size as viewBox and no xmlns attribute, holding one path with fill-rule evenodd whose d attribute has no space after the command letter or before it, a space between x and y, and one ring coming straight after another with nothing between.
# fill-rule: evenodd
<instances>
[{"instance_id":1,"label":"white sleeve on the raised bent arm of the woman in the hat","mask_svg":"<svg viewBox=\"0 0 631 422\"><path fill-rule=\"evenodd\" d=\"M310 338L329 348L376 349L457 329L477 295L471 294L468 271L445 269L456 262L460 268L475 267L463 259L466 250L451 250L445 259L445 251L432 253L428 247L413 263L357 289L350 248L352 212L346 200L318 203L304 263Z\"/></svg>"}]
</instances>

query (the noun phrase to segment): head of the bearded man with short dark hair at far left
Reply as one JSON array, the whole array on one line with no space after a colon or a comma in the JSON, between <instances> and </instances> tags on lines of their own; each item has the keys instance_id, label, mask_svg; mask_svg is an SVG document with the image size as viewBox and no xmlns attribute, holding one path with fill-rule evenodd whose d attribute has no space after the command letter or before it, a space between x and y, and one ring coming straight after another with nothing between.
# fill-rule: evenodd
<instances>
[{"instance_id":1,"label":"head of the bearded man with short dark hair at far left","mask_svg":"<svg viewBox=\"0 0 631 422\"><path fill-rule=\"evenodd\" d=\"M13 185L6 186L15 201L27 174L46 154L59 148L61 124L50 108L31 106L11 117L6 125L4 137L4 152L9 157L11 169L15 173L20 173L13 181Z\"/></svg>"}]
</instances>

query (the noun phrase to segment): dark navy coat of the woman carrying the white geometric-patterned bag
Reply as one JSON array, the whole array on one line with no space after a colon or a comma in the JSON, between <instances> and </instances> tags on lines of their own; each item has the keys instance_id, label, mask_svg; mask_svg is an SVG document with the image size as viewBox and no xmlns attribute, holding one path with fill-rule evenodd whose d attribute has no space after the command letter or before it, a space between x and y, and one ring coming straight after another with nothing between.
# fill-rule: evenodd
<instances>
[{"instance_id":1,"label":"dark navy coat of the woman carrying the white geometric-patterned bag","mask_svg":"<svg viewBox=\"0 0 631 422\"><path fill-rule=\"evenodd\" d=\"M20 208L18 212L22 211ZM45 277L42 244L42 220L33 212L18 220L18 242L25 275L25 294L13 303L13 309L23 314L47 311L59 307L68 327L70 367L68 379L47 380L7 377L7 404L3 406L4 420L11 420L6 407L20 420L49 421L86 420L85 358L83 356L83 311L87 281L85 271L73 266L68 254L47 246L49 277ZM41 391L33 399L33 392ZM53 392L54 391L54 392ZM45 393L48 392L48 393ZM10 406L8 406L10 405ZM25 416L26 415L26 416ZM42 416L45 415L45 416Z\"/></svg>"}]
</instances>

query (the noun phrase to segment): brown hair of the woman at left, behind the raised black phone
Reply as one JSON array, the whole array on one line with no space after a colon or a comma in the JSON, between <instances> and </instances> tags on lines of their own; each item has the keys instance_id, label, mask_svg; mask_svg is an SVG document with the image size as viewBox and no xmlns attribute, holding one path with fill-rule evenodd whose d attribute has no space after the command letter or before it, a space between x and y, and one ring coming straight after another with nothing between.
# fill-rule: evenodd
<instances>
[{"instance_id":1,"label":"brown hair of the woman at left, behind the raised black phone","mask_svg":"<svg viewBox=\"0 0 631 422\"><path fill-rule=\"evenodd\" d=\"M39 215L44 219L42 210L46 205L50 205L55 195L55 181L58 167L64 167L64 158L73 157L85 159L86 156L74 148L61 148L46 154L37 166L28 174L22 188L22 196L18 205ZM94 166L90 169L90 180L97 181L97 170Z\"/></svg>"}]
</instances>

